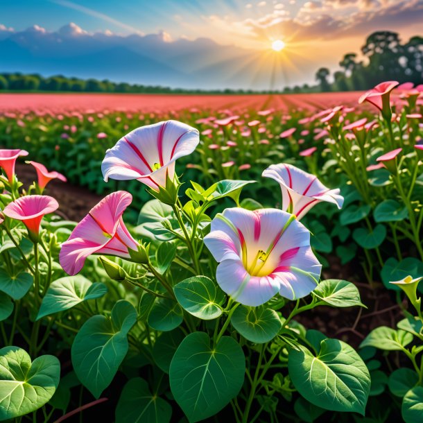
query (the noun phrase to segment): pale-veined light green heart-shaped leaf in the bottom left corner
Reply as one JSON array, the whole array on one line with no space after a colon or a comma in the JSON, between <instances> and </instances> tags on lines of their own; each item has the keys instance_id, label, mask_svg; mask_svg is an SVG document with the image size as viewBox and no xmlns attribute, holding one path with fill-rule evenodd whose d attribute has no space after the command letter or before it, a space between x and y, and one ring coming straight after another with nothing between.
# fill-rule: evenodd
<instances>
[{"instance_id":1,"label":"pale-veined light green heart-shaped leaf in the bottom left corner","mask_svg":"<svg viewBox=\"0 0 423 423\"><path fill-rule=\"evenodd\" d=\"M0 421L25 415L44 406L60 379L60 362L44 355L31 363L18 347L0 349Z\"/></svg>"}]
</instances>

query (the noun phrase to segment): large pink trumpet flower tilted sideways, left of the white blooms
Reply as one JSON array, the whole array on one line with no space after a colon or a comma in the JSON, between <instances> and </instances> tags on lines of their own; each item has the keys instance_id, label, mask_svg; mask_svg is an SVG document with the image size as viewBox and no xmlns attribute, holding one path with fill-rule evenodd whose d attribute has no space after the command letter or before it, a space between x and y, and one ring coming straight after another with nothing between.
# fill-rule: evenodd
<instances>
[{"instance_id":1,"label":"large pink trumpet flower tilted sideways, left of the white blooms","mask_svg":"<svg viewBox=\"0 0 423 423\"><path fill-rule=\"evenodd\" d=\"M76 275L91 254L108 254L129 259L128 248L138 244L123 223L123 212L132 202L126 191L109 194L83 218L62 244L60 265L68 275Z\"/></svg>"}]
</instances>

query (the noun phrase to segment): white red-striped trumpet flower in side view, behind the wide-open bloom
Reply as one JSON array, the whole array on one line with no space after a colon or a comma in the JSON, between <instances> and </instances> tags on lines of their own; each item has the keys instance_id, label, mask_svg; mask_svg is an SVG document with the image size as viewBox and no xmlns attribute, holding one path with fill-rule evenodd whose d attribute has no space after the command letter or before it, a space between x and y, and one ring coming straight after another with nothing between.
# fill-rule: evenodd
<instances>
[{"instance_id":1,"label":"white red-striped trumpet flower in side view, behind the wide-open bloom","mask_svg":"<svg viewBox=\"0 0 423 423\"><path fill-rule=\"evenodd\" d=\"M320 201L332 202L338 209L343 205L344 198L340 196L340 189L325 187L317 176L292 164L272 164L262 175L279 182L282 210L295 214L299 220Z\"/></svg>"}]
</instances>

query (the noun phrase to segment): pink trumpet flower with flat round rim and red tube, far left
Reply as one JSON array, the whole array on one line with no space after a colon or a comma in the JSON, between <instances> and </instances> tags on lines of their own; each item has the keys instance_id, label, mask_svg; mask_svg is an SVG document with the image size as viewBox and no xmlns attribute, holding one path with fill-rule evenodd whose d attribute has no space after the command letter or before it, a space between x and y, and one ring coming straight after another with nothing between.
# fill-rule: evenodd
<instances>
[{"instance_id":1,"label":"pink trumpet flower with flat round rim and red tube, far left","mask_svg":"<svg viewBox=\"0 0 423 423\"><path fill-rule=\"evenodd\" d=\"M10 202L4 208L3 213L24 223L28 232L37 237L44 215L55 212L58 207L58 202L53 197L25 196Z\"/></svg>"}]
</instances>

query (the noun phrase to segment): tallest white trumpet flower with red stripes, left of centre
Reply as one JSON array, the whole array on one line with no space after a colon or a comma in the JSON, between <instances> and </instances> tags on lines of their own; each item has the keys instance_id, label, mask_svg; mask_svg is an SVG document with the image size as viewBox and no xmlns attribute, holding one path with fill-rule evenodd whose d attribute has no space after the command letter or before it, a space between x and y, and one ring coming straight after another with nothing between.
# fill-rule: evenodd
<instances>
[{"instance_id":1,"label":"tallest white trumpet flower with red stripes, left of centre","mask_svg":"<svg viewBox=\"0 0 423 423\"><path fill-rule=\"evenodd\" d=\"M200 142L198 130L178 121L141 126L106 151L101 164L104 180L137 179L148 187L165 187L173 179L175 161L189 155Z\"/></svg>"}]
</instances>

